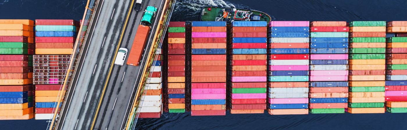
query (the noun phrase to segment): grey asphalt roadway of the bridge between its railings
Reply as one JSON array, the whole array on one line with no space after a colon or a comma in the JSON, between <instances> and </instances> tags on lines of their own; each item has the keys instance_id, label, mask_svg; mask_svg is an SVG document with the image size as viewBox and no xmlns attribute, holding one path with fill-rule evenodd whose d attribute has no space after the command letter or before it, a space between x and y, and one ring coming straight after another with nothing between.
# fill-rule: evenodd
<instances>
[{"instance_id":1,"label":"grey asphalt roadway of the bridge between its railings","mask_svg":"<svg viewBox=\"0 0 407 130\"><path fill-rule=\"evenodd\" d=\"M141 66L113 65L111 73L109 70L118 45L130 51L142 11L148 5L158 8L150 33L155 34L155 24L164 6L162 0L144 0L142 11L129 11L131 2L101 0L97 4L77 66L78 72L72 80L64 111L59 115L57 130L120 130L125 127L133 98L131 95L136 92L135 86L138 86L143 71L140 68L146 64L145 55L151 47L153 36L149 36ZM119 40L122 42L119 43ZM101 98L102 103L99 104Z\"/></svg>"}]
</instances>

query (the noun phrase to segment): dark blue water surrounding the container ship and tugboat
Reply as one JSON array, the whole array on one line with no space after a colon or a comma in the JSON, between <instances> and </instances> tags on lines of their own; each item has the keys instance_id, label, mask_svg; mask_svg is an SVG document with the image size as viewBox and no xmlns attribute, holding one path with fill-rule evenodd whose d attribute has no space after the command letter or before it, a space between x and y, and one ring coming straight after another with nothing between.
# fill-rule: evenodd
<instances>
[{"instance_id":1,"label":"dark blue water surrounding the container ship and tugboat","mask_svg":"<svg viewBox=\"0 0 407 130\"><path fill-rule=\"evenodd\" d=\"M85 0L0 0L0 19L82 18ZM407 0L178 0L171 21L197 21L201 6L235 6L276 21L407 21ZM407 113L190 116L138 119L137 129L407 130ZM45 130L46 120L2 120L0 130Z\"/></svg>"}]
</instances>

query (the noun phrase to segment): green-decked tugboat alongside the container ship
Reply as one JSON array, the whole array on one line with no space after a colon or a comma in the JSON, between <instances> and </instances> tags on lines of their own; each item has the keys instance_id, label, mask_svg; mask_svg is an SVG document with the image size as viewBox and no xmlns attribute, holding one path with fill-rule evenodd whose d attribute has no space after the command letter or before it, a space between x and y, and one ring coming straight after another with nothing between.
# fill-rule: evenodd
<instances>
[{"instance_id":1,"label":"green-decked tugboat alongside the container ship","mask_svg":"<svg viewBox=\"0 0 407 130\"><path fill-rule=\"evenodd\" d=\"M204 6L201 9L201 21L271 21L271 17L264 12L252 9L237 9L235 7Z\"/></svg>"}]
</instances>

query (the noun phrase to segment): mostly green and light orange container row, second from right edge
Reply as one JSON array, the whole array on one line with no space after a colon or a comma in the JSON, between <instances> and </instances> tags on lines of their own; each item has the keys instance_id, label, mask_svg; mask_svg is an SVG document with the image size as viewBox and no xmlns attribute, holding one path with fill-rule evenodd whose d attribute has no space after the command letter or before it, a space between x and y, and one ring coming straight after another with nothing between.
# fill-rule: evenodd
<instances>
[{"instance_id":1,"label":"mostly green and light orange container row, second from right edge","mask_svg":"<svg viewBox=\"0 0 407 130\"><path fill-rule=\"evenodd\" d=\"M384 113L385 21L349 26L349 113Z\"/></svg>"}]
</instances>

